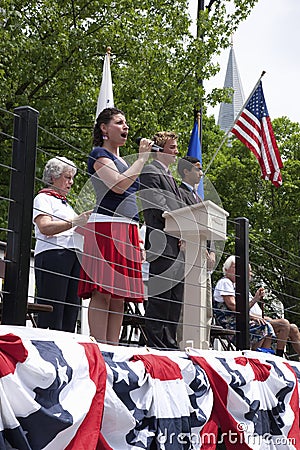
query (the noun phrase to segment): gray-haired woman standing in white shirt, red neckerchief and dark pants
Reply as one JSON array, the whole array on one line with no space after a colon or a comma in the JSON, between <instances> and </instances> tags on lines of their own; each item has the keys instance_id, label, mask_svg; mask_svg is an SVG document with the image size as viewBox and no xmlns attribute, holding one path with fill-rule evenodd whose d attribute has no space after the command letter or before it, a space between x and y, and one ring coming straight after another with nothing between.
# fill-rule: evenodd
<instances>
[{"instance_id":1,"label":"gray-haired woman standing in white shirt, red neckerchief and dark pants","mask_svg":"<svg viewBox=\"0 0 300 450\"><path fill-rule=\"evenodd\" d=\"M76 167L67 158L50 159L43 174L48 187L38 193L33 204L36 299L53 306L52 313L39 313L38 326L70 332L75 331L80 303L77 252L82 251L83 237L76 227L85 225L90 215L77 216L67 201L75 174Z\"/></svg>"}]
</instances>

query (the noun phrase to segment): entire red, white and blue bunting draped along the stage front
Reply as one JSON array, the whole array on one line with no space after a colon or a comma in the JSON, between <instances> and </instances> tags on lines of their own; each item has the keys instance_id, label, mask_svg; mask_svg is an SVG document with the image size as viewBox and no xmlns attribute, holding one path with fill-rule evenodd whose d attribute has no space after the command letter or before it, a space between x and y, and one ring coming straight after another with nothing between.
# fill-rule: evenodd
<instances>
[{"instance_id":1,"label":"entire red, white and blue bunting draped along the stage front","mask_svg":"<svg viewBox=\"0 0 300 450\"><path fill-rule=\"evenodd\" d=\"M0 450L298 450L300 362L0 326Z\"/></svg>"}]
</instances>

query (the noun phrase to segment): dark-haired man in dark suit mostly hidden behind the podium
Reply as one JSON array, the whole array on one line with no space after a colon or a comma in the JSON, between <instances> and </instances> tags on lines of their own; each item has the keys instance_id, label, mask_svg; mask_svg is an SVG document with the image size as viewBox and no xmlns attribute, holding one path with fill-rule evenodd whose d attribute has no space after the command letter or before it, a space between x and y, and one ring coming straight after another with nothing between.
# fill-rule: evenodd
<instances>
[{"instance_id":1,"label":"dark-haired man in dark suit mostly hidden behind the podium","mask_svg":"<svg viewBox=\"0 0 300 450\"><path fill-rule=\"evenodd\" d=\"M179 159L177 171L182 179L179 191L183 202L186 205L194 205L202 201L197 193L197 187L203 175L201 162L198 158L192 156L184 156ZM216 262L215 246L213 241L207 241L206 248L207 257L207 283L206 283L206 313L207 313L207 338L210 340L210 324L212 320L212 289L211 289L211 273ZM181 320L182 323L182 311ZM178 327L178 340L182 340L181 326Z\"/></svg>"}]
</instances>

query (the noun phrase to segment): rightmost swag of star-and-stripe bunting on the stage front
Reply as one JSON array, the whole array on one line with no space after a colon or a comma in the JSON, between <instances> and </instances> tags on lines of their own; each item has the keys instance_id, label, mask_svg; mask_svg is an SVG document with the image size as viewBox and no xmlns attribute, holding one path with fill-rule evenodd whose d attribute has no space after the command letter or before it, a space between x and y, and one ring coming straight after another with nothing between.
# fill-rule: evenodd
<instances>
[{"instance_id":1,"label":"rightmost swag of star-and-stripe bunting on the stage front","mask_svg":"<svg viewBox=\"0 0 300 450\"><path fill-rule=\"evenodd\" d=\"M221 424L227 449L300 448L299 379L287 362L251 351L209 362L197 350L190 357L209 378L211 419Z\"/></svg>"}]
</instances>

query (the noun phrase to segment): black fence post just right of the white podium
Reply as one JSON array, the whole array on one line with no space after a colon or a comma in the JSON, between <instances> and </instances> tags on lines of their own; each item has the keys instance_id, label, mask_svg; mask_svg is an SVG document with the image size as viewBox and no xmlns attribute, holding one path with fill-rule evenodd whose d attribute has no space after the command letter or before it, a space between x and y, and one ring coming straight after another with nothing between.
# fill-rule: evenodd
<instances>
[{"instance_id":1,"label":"black fence post just right of the white podium","mask_svg":"<svg viewBox=\"0 0 300 450\"><path fill-rule=\"evenodd\" d=\"M235 219L235 274L236 274L236 347L250 348L249 335L249 221Z\"/></svg>"}]
</instances>

